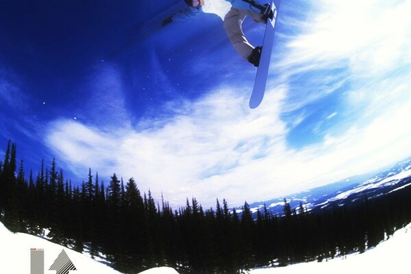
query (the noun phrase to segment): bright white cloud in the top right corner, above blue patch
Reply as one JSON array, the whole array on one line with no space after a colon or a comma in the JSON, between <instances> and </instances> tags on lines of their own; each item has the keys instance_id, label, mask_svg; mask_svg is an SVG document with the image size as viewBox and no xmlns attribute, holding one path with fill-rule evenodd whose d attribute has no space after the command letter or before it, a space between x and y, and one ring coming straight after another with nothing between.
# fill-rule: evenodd
<instances>
[{"instance_id":1,"label":"bright white cloud in the top right corner, above blue patch","mask_svg":"<svg viewBox=\"0 0 411 274\"><path fill-rule=\"evenodd\" d=\"M282 66L311 69L313 62L318 68L349 60L354 72L375 75L409 63L410 6L410 1L314 1L310 16L299 22L301 32L288 42Z\"/></svg>"}]
</instances>

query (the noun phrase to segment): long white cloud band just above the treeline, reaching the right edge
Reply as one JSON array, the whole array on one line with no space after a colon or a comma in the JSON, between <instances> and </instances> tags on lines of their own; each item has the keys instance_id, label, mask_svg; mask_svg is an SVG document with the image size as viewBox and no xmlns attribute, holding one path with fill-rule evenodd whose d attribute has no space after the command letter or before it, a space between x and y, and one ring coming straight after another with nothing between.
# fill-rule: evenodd
<instances>
[{"instance_id":1,"label":"long white cloud band just above the treeline, reaching the right edge","mask_svg":"<svg viewBox=\"0 0 411 274\"><path fill-rule=\"evenodd\" d=\"M284 92L271 93L261 112L242 108L244 98L230 91L209 95L157 129L112 133L57 121L47 143L73 172L86 174L92 166L106 177L113 172L135 177L142 190L162 191L179 205L192 196L205 205L216 197L238 205L245 199L288 195L411 153L411 129L406 126L411 103L366 127L329 135L299 151L290 149L287 129L278 119Z\"/></svg>"}]
</instances>

